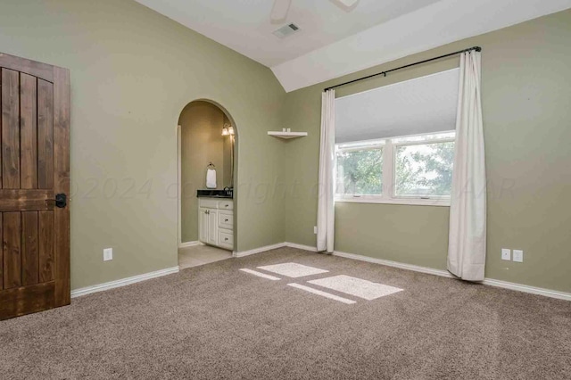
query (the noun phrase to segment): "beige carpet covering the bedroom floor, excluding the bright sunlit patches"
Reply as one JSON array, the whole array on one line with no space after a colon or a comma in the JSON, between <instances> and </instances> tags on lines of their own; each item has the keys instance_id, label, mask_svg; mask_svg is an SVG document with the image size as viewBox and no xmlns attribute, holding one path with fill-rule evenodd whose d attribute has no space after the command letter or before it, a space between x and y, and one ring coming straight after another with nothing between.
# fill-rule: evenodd
<instances>
[{"instance_id":1,"label":"beige carpet covering the bedroom floor, excluding the bright sunlit patches","mask_svg":"<svg viewBox=\"0 0 571 380\"><path fill-rule=\"evenodd\" d=\"M328 270L269 280L240 271ZM403 289L337 302L287 284ZM0 322L2 379L569 379L571 302L282 248Z\"/></svg>"}]
</instances>

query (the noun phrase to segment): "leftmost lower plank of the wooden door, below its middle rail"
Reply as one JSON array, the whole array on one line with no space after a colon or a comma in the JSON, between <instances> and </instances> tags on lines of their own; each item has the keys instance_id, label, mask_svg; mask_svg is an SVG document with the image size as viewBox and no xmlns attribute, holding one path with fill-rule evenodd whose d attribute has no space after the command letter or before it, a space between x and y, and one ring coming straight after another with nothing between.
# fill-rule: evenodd
<instances>
[{"instance_id":1,"label":"leftmost lower plank of the wooden door, below its middle rail","mask_svg":"<svg viewBox=\"0 0 571 380\"><path fill-rule=\"evenodd\" d=\"M21 215L4 212L4 289L21 286Z\"/></svg>"}]
</instances>

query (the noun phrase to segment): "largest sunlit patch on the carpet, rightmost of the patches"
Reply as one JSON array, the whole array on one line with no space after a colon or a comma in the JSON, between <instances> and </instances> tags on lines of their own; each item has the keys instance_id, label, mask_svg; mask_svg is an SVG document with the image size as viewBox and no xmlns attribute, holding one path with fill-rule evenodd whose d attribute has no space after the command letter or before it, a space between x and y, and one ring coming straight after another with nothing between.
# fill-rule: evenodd
<instances>
[{"instance_id":1,"label":"largest sunlit patch on the carpet, rightmost of the patches","mask_svg":"<svg viewBox=\"0 0 571 380\"><path fill-rule=\"evenodd\" d=\"M398 287L373 283L345 275L319 278L318 280L308 281L308 283L323 286L337 292L351 294L368 301L402 291L402 289Z\"/></svg>"}]
</instances>

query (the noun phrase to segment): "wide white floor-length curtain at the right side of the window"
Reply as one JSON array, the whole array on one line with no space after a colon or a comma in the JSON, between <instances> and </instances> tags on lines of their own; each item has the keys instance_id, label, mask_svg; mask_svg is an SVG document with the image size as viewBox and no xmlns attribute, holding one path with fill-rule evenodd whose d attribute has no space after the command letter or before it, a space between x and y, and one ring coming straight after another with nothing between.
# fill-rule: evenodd
<instances>
[{"instance_id":1,"label":"wide white floor-length curtain at the right side of the window","mask_svg":"<svg viewBox=\"0 0 571 380\"><path fill-rule=\"evenodd\" d=\"M448 270L484 280L486 192L480 53L460 57L459 101L450 208Z\"/></svg>"}]
</instances>

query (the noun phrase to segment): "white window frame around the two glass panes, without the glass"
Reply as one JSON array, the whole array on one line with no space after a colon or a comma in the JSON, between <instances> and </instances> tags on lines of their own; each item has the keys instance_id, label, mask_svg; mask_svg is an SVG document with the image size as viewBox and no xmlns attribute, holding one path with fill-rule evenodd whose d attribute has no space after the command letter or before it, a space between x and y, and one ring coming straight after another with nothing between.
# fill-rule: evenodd
<instances>
[{"instance_id":1,"label":"white window frame around the two glass panes, without the glass","mask_svg":"<svg viewBox=\"0 0 571 380\"><path fill-rule=\"evenodd\" d=\"M439 135L442 133L450 133L454 131L446 131L439 133L420 134L413 136L394 136L377 140L360 141L355 143L345 143L335 145L335 168L337 167L336 159L337 152L351 152L374 149L377 146L383 148L383 190L381 195L360 195L360 194L335 194L335 202L354 202L354 203L386 203L386 204L408 204L419 206L444 206L450 207L450 196L416 196L416 195L395 195L396 175L394 162L396 162L396 147L410 146L410 145L428 145L450 143L455 141L455 137L434 138L418 141L401 141L393 142L393 140L404 139L414 136L431 136ZM388 180L387 180L388 179ZM336 173L335 173L335 186L336 186Z\"/></svg>"}]
</instances>

